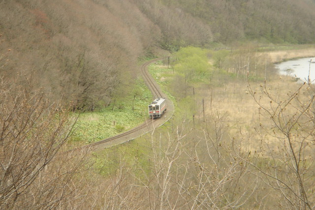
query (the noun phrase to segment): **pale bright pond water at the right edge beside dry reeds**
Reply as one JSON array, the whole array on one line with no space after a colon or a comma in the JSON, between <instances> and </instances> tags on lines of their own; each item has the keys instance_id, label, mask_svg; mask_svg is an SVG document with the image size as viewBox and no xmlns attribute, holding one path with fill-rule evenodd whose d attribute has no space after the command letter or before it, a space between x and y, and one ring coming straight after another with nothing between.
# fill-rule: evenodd
<instances>
[{"instance_id":1,"label":"pale bright pond water at the right edge beside dry reeds","mask_svg":"<svg viewBox=\"0 0 315 210\"><path fill-rule=\"evenodd\" d=\"M307 81L309 74L311 82L315 81L315 57L297 60L288 60L275 64L282 75L289 75Z\"/></svg>"}]
</instances>

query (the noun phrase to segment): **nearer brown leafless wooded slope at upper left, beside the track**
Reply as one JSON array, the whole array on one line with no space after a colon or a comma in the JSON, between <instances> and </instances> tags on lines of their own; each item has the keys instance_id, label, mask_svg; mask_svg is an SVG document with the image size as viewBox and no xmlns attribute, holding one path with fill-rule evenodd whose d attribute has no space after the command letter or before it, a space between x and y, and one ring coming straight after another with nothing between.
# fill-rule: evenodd
<instances>
[{"instance_id":1,"label":"nearer brown leafless wooded slope at upper left, beside the track","mask_svg":"<svg viewBox=\"0 0 315 210\"><path fill-rule=\"evenodd\" d=\"M109 103L160 32L132 2L0 2L1 76L76 108Z\"/></svg>"}]
</instances>

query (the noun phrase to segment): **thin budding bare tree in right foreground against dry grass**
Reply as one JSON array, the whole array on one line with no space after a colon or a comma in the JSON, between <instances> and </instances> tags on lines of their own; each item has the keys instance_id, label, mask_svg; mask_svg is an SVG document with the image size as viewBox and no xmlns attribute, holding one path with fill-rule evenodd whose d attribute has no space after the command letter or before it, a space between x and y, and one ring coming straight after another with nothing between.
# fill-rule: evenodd
<instances>
[{"instance_id":1,"label":"thin budding bare tree in right foreground against dry grass","mask_svg":"<svg viewBox=\"0 0 315 210\"><path fill-rule=\"evenodd\" d=\"M259 90L248 86L258 105L261 151L244 159L273 190L282 208L314 209L315 112L311 83L281 98L266 83ZM259 95L258 92L262 94Z\"/></svg>"}]
</instances>

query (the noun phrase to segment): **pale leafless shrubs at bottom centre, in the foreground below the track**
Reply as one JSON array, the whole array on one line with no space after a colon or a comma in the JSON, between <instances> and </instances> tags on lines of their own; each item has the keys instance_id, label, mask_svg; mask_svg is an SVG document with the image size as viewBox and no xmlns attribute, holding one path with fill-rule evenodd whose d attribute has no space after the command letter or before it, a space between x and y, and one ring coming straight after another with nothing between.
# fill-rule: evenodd
<instances>
[{"instance_id":1,"label":"pale leafless shrubs at bottom centre, in the foreground below the track","mask_svg":"<svg viewBox=\"0 0 315 210\"><path fill-rule=\"evenodd\" d=\"M218 135L210 132L213 124L194 130L187 121L172 126L172 132L155 130L145 145L150 152L142 154L146 164L126 165L121 154L119 169L100 190L103 205L113 209L250 207L260 181L250 176L249 164L236 158L228 136L221 138L225 128L219 125L221 118L216 120ZM240 150L238 155L243 155Z\"/></svg>"}]
</instances>

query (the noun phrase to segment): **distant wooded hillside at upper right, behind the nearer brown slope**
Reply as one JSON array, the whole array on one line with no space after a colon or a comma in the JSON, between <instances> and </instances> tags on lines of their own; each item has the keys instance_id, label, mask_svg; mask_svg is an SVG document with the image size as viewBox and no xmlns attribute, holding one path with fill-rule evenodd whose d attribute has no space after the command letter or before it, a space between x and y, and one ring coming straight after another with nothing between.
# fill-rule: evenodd
<instances>
[{"instance_id":1,"label":"distant wooded hillside at upper right, behind the nearer brown slope","mask_svg":"<svg viewBox=\"0 0 315 210\"><path fill-rule=\"evenodd\" d=\"M310 0L136 0L162 30L165 45L314 43Z\"/></svg>"}]
</instances>

